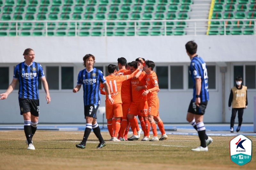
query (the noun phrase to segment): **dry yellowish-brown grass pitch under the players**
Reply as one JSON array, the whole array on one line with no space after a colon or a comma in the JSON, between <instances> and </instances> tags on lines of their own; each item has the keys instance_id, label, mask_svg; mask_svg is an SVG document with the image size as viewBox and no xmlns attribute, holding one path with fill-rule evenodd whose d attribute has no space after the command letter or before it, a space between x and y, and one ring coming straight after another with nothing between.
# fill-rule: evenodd
<instances>
[{"instance_id":1,"label":"dry yellowish-brown grass pitch under the players","mask_svg":"<svg viewBox=\"0 0 256 170\"><path fill-rule=\"evenodd\" d=\"M233 137L212 136L208 152L192 152L200 145L197 136L168 135L164 141L108 141L99 144L91 132L85 149L76 148L83 131L37 130L36 150L27 150L23 130L0 131L0 169L255 169L256 137L252 140L252 160L244 166L230 161L229 141ZM131 135L128 134L128 137ZM158 135L159 137L160 135ZM142 137L140 137L141 140Z\"/></svg>"}]
</instances>

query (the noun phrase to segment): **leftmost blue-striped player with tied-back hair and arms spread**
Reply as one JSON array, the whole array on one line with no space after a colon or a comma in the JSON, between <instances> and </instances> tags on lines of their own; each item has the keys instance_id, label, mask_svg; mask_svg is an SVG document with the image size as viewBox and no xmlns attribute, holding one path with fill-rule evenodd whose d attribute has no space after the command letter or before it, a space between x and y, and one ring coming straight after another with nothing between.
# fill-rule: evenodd
<instances>
[{"instance_id":1,"label":"leftmost blue-striped player with tied-back hair and arms spread","mask_svg":"<svg viewBox=\"0 0 256 170\"><path fill-rule=\"evenodd\" d=\"M27 138L26 143L28 144L27 149L35 150L32 137L36 132L39 116L38 78L42 81L47 104L50 103L51 97L43 68L39 63L34 62L34 50L27 48L23 55L25 61L16 65L12 83L5 93L0 94L0 99L7 99L19 80L20 115L23 115L24 118L24 132Z\"/></svg>"}]
</instances>

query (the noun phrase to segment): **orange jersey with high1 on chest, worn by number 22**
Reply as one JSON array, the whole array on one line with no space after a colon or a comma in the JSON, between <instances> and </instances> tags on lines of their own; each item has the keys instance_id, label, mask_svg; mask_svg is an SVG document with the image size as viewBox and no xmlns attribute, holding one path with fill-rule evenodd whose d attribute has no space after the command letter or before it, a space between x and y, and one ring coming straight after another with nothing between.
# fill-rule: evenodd
<instances>
[{"instance_id":1,"label":"orange jersey with high1 on chest, worn by number 22","mask_svg":"<svg viewBox=\"0 0 256 170\"><path fill-rule=\"evenodd\" d=\"M145 89L142 89L140 91L135 90L135 88L137 86L144 86L144 85L146 85L146 78L147 78L147 74L143 71L143 72L141 72L139 78L131 80L131 84L132 84L132 101L133 102L140 102L140 101L147 100L147 96L142 96L142 93L146 91Z\"/></svg>"}]
</instances>

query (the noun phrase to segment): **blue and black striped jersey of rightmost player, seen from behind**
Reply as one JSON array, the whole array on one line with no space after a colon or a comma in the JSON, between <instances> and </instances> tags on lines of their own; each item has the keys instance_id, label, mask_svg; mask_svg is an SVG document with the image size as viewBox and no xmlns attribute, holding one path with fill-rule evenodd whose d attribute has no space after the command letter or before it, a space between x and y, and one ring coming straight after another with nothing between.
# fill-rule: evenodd
<instances>
[{"instance_id":1,"label":"blue and black striped jersey of rightmost player, seen from behind","mask_svg":"<svg viewBox=\"0 0 256 170\"><path fill-rule=\"evenodd\" d=\"M196 55L192 58L189 73L193 80L193 101L196 101L196 78L201 78L202 87L200 92L200 98L202 102L209 100L209 91L208 91L208 75L207 68L204 60Z\"/></svg>"}]
</instances>

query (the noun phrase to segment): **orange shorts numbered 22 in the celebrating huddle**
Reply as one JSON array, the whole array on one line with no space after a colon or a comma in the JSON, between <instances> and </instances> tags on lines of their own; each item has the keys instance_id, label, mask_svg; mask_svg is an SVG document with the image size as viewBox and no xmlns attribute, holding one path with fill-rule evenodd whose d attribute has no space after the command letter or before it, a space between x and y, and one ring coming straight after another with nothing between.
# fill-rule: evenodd
<instances>
[{"instance_id":1,"label":"orange shorts numbered 22 in the celebrating huddle","mask_svg":"<svg viewBox=\"0 0 256 170\"><path fill-rule=\"evenodd\" d=\"M138 114L139 113L139 114ZM131 115L140 115L140 116L148 116L148 102L147 101L140 101L140 102L131 102L129 107L128 114Z\"/></svg>"}]
</instances>

